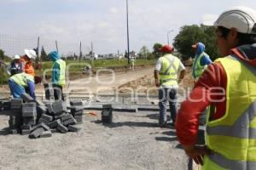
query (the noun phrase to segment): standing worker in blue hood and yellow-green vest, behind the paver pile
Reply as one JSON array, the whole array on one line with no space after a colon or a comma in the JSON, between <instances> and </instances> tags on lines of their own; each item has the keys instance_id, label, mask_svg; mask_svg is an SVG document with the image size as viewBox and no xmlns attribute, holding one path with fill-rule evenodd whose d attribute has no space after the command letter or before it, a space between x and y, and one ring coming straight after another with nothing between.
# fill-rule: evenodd
<instances>
[{"instance_id":1,"label":"standing worker in blue hood and yellow-green vest, behind the paver pile","mask_svg":"<svg viewBox=\"0 0 256 170\"><path fill-rule=\"evenodd\" d=\"M55 99L64 100L62 88L66 84L66 62L61 59L57 51L48 54L50 60L54 61L51 73L51 82L53 83Z\"/></svg>"}]
</instances>

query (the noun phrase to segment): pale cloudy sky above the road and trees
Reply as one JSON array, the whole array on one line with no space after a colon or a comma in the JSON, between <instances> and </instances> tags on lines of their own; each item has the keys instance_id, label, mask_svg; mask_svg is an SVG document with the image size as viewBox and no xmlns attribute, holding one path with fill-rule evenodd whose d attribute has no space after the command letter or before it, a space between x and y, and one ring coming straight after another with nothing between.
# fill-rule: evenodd
<instances>
[{"instance_id":1,"label":"pale cloudy sky above the road and trees","mask_svg":"<svg viewBox=\"0 0 256 170\"><path fill-rule=\"evenodd\" d=\"M128 0L130 50L149 50L155 42L170 42L186 25L200 25L218 18L232 6L256 8L255 0ZM9 54L40 47L62 54L84 54L91 42L96 54L125 52L125 0L0 0L0 48Z\"/></svg>"}]
</instances>

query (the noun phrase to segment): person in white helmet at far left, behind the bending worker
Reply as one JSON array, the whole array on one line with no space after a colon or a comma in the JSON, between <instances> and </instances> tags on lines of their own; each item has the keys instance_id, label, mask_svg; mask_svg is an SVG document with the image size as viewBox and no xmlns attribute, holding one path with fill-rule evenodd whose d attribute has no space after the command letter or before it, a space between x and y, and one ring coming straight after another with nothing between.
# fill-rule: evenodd
<instances>
[{"instance_id":1,"label":"person in white helmet at far left, behind the bending worker","mask_svg":"<svg viewBox=\"0 0 256 170\"><path fill-rule=\"evenodd\" d=\"M14 76L15 74L22 72L22 64L20 62L20 55L15 55L13 61L7 67L7 73L10 76Z\"/></svg>"}]
</instances>

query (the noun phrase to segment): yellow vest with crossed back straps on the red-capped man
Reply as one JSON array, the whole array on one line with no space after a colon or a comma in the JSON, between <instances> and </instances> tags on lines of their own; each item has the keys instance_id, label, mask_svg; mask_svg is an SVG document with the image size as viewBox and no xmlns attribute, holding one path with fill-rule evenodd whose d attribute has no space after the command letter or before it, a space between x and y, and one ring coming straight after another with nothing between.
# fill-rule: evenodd
<instances>
[{"instance_id":1,"label":"yellow vest with crossed back straps on the red-capped man","mask_svg":"<svg viewBox=\"0 0 256 170\"><path fill-rule=\"evenodd\" d=\"M180 60L172 54L166 54L160 58L160 84L161 86L177 86L177 69Z\"/></svg>"}]
</instances>

